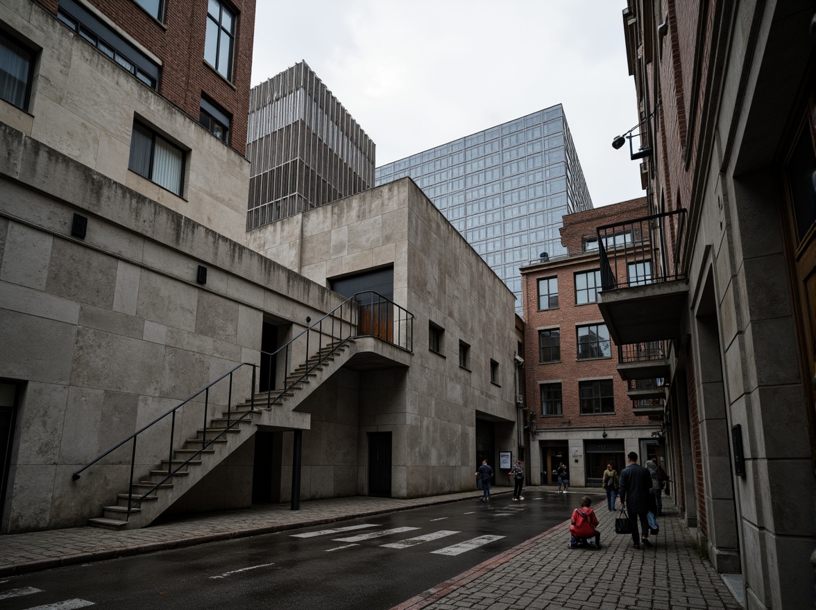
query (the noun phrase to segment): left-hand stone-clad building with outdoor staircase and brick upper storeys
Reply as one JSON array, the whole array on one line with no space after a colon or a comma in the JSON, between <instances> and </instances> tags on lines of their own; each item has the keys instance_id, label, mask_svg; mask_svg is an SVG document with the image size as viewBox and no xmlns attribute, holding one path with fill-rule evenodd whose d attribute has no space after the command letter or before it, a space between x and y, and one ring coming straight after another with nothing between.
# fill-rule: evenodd
<instances>
[{"instance_id":1,"label":"left-hand stone-clad building with outdoor staircase and brick upper storeys","mask_svg":"<svg viewBox=\"0 0 816 610\"><path fill-rule=\"evenodd\" d=\"M247 234L254 2L153 6L0 2L0 531L473 488L512 294L410 180Z\"/></svg>"}]
</instances>

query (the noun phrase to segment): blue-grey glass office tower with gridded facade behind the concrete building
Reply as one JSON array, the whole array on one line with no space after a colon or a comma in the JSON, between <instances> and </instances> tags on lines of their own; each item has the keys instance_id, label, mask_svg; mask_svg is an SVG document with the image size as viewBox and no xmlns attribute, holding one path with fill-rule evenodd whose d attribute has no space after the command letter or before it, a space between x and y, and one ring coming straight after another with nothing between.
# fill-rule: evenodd
<instances>
[{"instance_id":1,"label":"blue-grey glass office tower with gridded facade behind the concrete building","mask_svg":"<svg viewBox=\"0 0 816 610\"><path fill-rule=\"evenodd\" d=\"M516 294L518 268L566 254L561 217L592 209L561 104L377 168L410 176Z\"/></svg>"}]
</instances>

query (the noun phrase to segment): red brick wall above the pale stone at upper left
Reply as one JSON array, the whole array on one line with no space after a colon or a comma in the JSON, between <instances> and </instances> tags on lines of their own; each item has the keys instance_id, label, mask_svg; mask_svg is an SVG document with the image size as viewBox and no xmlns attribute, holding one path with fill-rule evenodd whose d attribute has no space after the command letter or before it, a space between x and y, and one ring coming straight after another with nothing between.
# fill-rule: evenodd
<instances>
[{"instance_id":1,"label":"red brick wall above the pale stone at upper left","mask_svg":"<svg viewBox=\"0 0 816 610\"><path fill-rule=\"evenodd\" d=\"M57 0L40 2L56 14ZM204 60L207 0L165 2L163 22L153 19L135 0L91 0L97 10L162 60L158 92L198 120L202 94L231 115L230 146L246 154L246 122L255 35L255 0L230 0L236 12L233 80L228 82Z\"/></svg>"}]
</instances>

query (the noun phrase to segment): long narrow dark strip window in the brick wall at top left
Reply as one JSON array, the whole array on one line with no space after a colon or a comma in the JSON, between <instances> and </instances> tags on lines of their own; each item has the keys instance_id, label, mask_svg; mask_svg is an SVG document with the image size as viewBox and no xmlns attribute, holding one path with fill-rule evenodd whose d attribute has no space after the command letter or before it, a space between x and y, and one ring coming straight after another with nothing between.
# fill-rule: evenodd
<instances>
[{"instance_id":1,"label":"long narrow dark strip window in the brick wall at top left","mask_svg":"<svg viewBox=\"0 0 816 610\"><path fill-rule=\"evenodd\" d=\"M63 24L78 33L101 53L115 61L140 82L158 91L161 68L139 49L110 29L96 15L73 0L60 0L57 13Z\"/></svg>"}]
</instances>

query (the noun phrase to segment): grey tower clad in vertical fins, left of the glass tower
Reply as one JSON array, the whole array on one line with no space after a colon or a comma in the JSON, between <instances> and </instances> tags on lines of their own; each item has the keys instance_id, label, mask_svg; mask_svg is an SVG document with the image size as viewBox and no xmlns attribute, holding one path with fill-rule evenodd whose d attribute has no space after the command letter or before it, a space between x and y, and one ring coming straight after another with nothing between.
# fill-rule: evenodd
<instances>
[{"instance_id":1,"label":"grey tower clad in vertical fins, left of the glass tower","mask_svg":"<svg viewBox=\"0 0 816 610\"><path fill-rule=\"evenodd\" d=\"M365 191L375 145L305 61L252 88L246 229Z\"/></svg>"}]
</instances>

